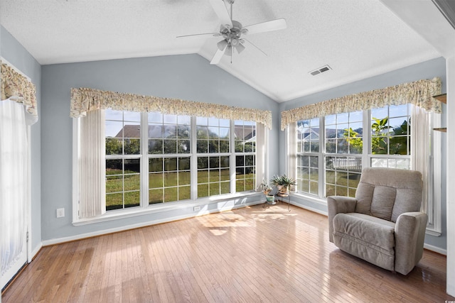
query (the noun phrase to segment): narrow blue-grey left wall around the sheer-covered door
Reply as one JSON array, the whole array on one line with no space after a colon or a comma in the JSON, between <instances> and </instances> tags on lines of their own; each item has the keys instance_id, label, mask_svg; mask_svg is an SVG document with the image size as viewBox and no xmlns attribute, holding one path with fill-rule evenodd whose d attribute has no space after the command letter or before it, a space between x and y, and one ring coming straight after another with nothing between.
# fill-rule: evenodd
<instances>
[{"instance_id":1,"label":"narrow blue-grey left wall around the sheer-covered door","mask_svg":"<svg viewBox=\"0 0 455 303\"><path fill-rule=\"evenodd\" d=\"M0 26L0 53L14 67L30 77L36 86L38 122L31 126L31 247L41 246L41 65Z\"/></svg>"}]
</instances>

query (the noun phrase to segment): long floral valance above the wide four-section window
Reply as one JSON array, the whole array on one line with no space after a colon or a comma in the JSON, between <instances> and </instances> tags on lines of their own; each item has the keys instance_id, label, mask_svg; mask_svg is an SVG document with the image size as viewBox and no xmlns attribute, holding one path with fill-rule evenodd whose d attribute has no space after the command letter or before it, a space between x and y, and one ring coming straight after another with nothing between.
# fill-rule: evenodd
<instances>
[{"instance_id":1,"label":"long floral valance above the wide four-section window","mask_svg":"<svg viewBox=\"0 0 455 303\"><path fill-rule=\"evenodd\" d=\"M245 109L242 107L208 104L181 99L141 96L138 94L107 92L90 88L71 89L71 117L82 117L87 114L87 111L94 111L96 109L141 112L159 111L163 114L256 121L272 129L272 111Z\"/></svg>"}]
</instances>

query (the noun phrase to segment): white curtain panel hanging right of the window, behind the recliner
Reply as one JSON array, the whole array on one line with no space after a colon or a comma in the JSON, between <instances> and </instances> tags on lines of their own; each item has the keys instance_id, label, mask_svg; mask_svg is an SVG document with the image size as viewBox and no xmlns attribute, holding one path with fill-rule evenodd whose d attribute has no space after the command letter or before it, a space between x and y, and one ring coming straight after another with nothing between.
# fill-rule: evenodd
<instances>
[{"instance_id":1,"label":"white curtain panel hanging right of the window, behind the recliner","mask_svg":"<svg viewBox=\"0 0 455 303\"><path fill-rule=\"evenodd\" d=\"M431 172L431 113L419 106L412 106L411 113L411 169L422 172L423 179L423 201L422 211L431 211L427 209L429 182L432 182ZM432 218L432 214L428 214Z\"/></svg>"}]
</instances>

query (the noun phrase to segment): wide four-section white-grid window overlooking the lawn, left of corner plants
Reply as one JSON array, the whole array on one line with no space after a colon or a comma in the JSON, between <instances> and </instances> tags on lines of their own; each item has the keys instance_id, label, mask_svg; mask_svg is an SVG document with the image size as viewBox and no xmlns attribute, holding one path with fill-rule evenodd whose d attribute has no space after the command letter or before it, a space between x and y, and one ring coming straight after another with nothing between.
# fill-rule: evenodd
<instances>
[{"instance_id":1,"label":"wide four-section white-grid window overlooking the lawn, left of corner plants","mask_svg":"<svg viewBox=\"0 0 455 303\"><path fill-rule=\"evenodd\" d=\"M254 190L255 143L252 121L107 109L106 210Z\"/></svg>"}]
</instances>

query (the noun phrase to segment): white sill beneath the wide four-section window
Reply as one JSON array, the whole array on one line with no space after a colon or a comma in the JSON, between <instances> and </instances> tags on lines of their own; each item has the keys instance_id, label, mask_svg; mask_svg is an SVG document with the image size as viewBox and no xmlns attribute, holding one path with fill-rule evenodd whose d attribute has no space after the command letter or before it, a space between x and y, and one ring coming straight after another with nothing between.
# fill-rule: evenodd
<instances>
[{"instance_id":1,"label":"white sill beneath the wide four-section window","mask_svg":"<svg viewBox=\"0 0 455 303\"><path fill-rule=\"evenodd\" d=\"M236 194L224 194L216 197L204 197L197 200L186 200L183 202L166 202L161 204L151 204L146 207L137 206L131 209L119 209L106 212L101 216L94 216L87 219L76 219L73 221L73 226L82 226L87 224L96 224L107 221L114 221L119 219L131 218L134 216L144 216L146 214L156 214L164 211L171 211L175 209L188 209L194 206L202 206L223 202L225 200L237 199L242 197L260 196L262 192L243 192ZM206 214L206 211L195 212L194 216Z\"/></svg>"}]
</instances>

